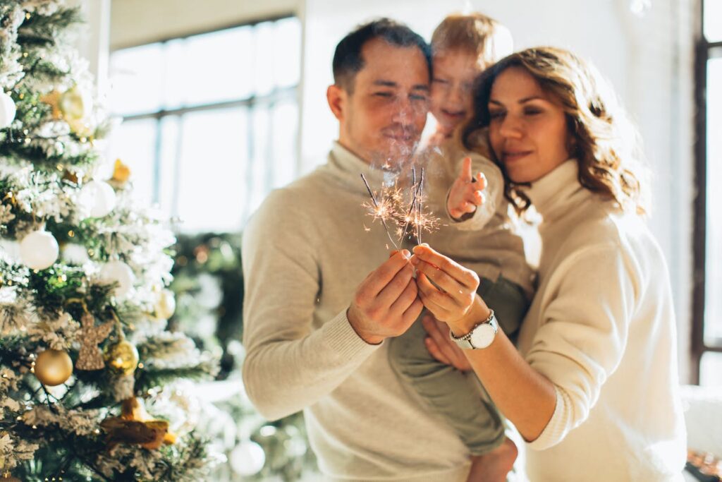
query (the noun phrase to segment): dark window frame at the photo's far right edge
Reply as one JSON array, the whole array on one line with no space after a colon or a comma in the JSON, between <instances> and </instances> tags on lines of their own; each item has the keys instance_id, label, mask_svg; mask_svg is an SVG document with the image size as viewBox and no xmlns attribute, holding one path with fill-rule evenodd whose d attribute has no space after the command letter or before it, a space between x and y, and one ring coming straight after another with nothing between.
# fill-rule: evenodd
<instances>
[{"instance_id":1,"label":"dark window frame at the photo's far right edge","mask_svg":"<svg viewBox=\"0 0 722 482\"><path fill-rule=\"evenodd\" d=\"M722 340L718 344L705 341L705 269L707 249L707 64L716 57L713 51L722 49L722 40L709 42L704 33L705 0L697 2L695 26L695 188L692 272L692 340L690 379L700 383L700 366L705 353L722 353Z\"/></svg>"}]
</instances>

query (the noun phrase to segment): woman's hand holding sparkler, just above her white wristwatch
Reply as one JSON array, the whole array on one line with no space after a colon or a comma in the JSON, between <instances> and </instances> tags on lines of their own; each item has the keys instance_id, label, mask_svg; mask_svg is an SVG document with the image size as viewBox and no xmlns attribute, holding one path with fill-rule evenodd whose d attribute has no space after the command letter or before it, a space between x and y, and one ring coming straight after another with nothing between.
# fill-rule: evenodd
<instances>
[{"instance_id":1,"label":"woman's hand holding sparkler, just above her white wristwatch","mask_svg":"<svg viewBox=\"0 0 722 482\"><path fill-rule=\"evenodd\" d=\"M414 247L411 263L416 267L419 298L436 319L453 324L469 312L477 298L477 273L427 244Z\"/></svg>"}]
</instances>

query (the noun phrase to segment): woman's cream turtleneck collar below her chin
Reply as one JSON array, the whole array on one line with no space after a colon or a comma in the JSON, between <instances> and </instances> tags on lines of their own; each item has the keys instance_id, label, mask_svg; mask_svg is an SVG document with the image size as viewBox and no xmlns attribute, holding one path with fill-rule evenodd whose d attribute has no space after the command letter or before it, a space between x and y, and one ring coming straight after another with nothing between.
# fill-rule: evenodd
<instances>
[{"instance_id":1,"label":"woman's cream turtleneck collar below her chin","mask_svg":"<svg viewBox=\"0 0 722 482\"><path fill-rule=\"evenodd\" d=\"M565 160L542 178L531 183L523 191L531 200L536 212L544 220L569 209L573 197L585 189L579 182L579 165L576 159Z\"/></svg>"}]
</instances>

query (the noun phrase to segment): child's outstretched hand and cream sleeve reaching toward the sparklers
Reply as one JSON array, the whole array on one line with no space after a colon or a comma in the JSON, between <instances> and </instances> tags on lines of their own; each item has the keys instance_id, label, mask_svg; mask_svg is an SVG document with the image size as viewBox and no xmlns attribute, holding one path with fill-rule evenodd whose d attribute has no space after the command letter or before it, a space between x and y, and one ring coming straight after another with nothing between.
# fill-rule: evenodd
<instances>
[{"instance_id":1,"label":"child's outstretched hand and cream sleeve reaching toward the sparklers","mask_svg":"<svg viewBox=\"0 0 722 482\"><path fill-rule=\"evenodd\" d=\"M446 197L446 211L456 228L479 230L503 202L504 178L497 165L477 153L464 158L460 167Z\"/></svg>"}]
</instances>

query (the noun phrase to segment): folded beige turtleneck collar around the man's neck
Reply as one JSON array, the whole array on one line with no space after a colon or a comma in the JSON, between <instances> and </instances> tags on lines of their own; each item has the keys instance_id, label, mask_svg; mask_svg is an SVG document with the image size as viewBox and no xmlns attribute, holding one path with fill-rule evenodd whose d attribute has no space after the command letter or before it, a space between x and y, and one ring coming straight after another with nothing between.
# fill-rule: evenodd
<instances>
[{"instance_id":1,"label":"folded beige turtleneck collar around the man's neck","mask_svg":"<svg viewBox=\"0 0 722 482\"><path fill-rule=\"evenodd\" d=\"M338 141L334 142L334 146L329 152L329 166L352 191L367 192L361 174L364 175L373 191L378 191L382 186L393 185L399 176L399 173L395 171L387 171L380 166L370 165L339 144Z\"/></svg>"}]
</instances>

